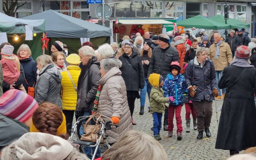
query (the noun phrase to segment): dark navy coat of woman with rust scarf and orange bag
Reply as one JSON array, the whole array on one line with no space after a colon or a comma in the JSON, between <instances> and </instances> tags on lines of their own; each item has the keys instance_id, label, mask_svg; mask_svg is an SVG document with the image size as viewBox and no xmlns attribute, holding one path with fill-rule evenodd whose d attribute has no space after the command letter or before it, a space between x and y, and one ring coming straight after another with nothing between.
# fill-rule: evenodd
<instances>
[{"instance_id":1,"label":"dark navy coat of woman with rust scarf and orange bag","mask_svg":"<svg viewBox=\"0 0 256 160\"><path fill-rule=\"evenodd\" d=\"M36 61L30 56L28 59L20 60L20 64L24 69L25 78L28 82L24 80L22 82L23 86L25 87L26 91L28 92L28 87L32 87L35 83L34 87L36 86L36 76L37 76L37 68L36 68ZM29 85L29 86L28 86Z\"/></svg>"}]
</instances>

